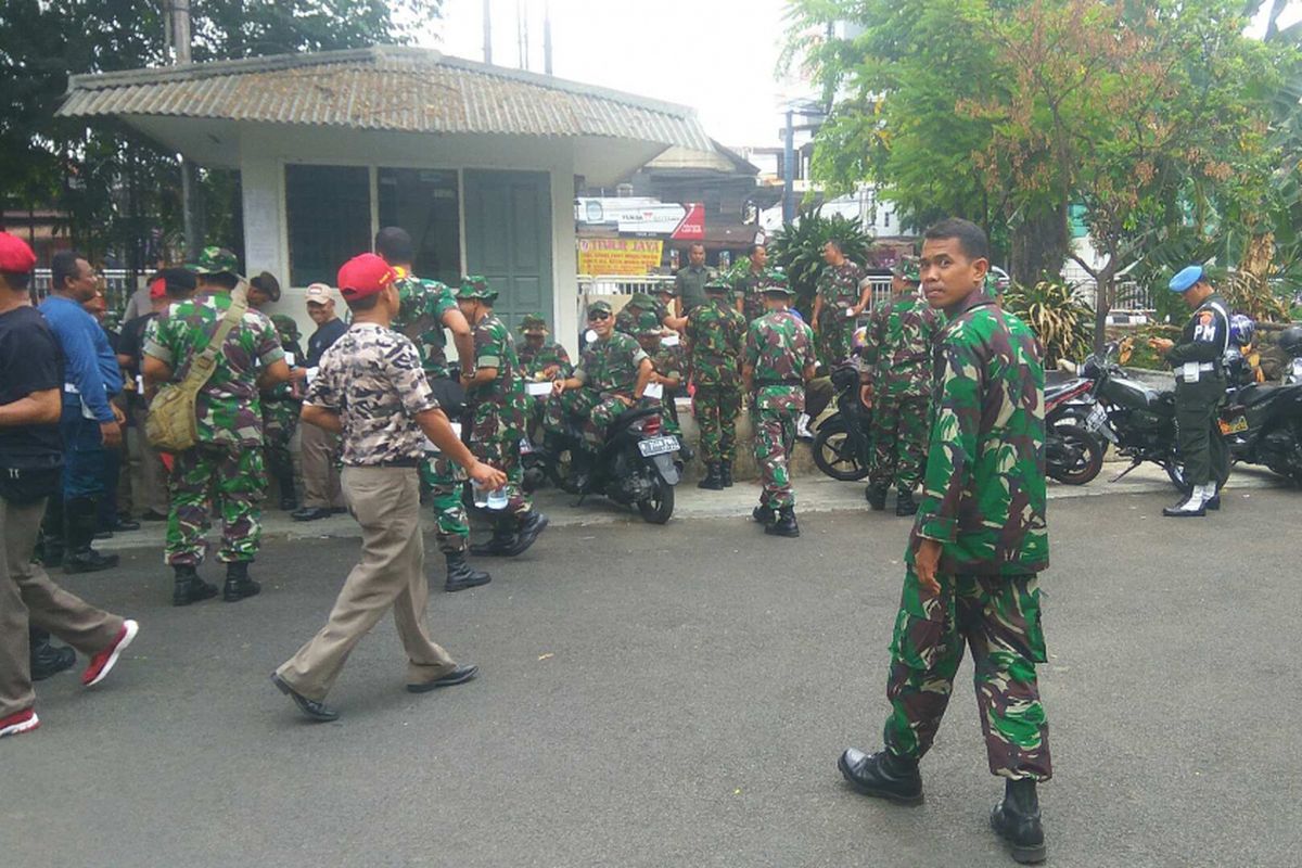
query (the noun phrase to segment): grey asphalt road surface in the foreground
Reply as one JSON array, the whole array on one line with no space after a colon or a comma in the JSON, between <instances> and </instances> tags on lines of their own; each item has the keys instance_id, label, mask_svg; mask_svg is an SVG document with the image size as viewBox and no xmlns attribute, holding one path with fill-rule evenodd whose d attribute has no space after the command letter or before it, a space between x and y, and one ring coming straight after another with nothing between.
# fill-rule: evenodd
<instances>
[{"instance_id":1,"label":"grey asphalt road surface in the foreground","mask_svg":"<svg viewBox=\"0 0 1302 868\"><path fill-rule=\"evenodd\" d=\"M1159 517L1169 500L1051 509L1049 864L1298 865L1302 495L1182 523ZM837 755L875 747L887 709L905 524L803 531L548 531L492 584L432 597L435 638L478 681L406 694L385 621L326 725L267 675L320 626L354 540L273 543L260 597L189 609L167 605L156 550L128 553L65 583L142 632L94 691L39 685L43 727L0 742L0 864L1012 864L969 664L923 807L842 786Z\"/></svg>"}]
</instances>

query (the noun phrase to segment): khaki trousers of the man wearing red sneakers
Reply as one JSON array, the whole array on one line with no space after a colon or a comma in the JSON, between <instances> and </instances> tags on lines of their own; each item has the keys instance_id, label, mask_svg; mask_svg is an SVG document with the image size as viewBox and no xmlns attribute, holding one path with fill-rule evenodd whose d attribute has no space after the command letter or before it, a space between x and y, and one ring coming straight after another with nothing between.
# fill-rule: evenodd
<instances>
[{"instance_id":1,"label":"khaki trousers of the man wearing red sneakers","mask_svg":"<svg viewBox=\"0 0 1302 868\"><path fill-rule=\"evenodd\" d=\"M17 506L0 500L0 717L31 708L29 623L48 630L87 657L122 631L122 619L68 593L31 562L46 501Z\"/></svg>"}]
</instances>

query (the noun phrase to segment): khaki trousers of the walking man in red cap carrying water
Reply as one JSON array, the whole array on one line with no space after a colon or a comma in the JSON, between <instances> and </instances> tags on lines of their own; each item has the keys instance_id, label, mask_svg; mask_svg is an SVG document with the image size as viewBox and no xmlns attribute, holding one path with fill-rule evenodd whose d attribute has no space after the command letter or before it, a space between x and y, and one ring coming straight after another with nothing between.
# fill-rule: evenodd
<instances>
[{"instance_id":1,"label":"khaki trousers of the walking man in red cap carrying water","mask_svg":"<svg viewBox=\"0 0 1302 868\"><path fill-rule=\"evenodd\" d=\"M294 691L316 701L391 608L408 655L409 685L435 681L457 668L424 627L430 584L415 467L345 467L342 481L348 506L362 526L362 560L348 574L326 626L276 670Z\"/></svg>"}]
</instances>

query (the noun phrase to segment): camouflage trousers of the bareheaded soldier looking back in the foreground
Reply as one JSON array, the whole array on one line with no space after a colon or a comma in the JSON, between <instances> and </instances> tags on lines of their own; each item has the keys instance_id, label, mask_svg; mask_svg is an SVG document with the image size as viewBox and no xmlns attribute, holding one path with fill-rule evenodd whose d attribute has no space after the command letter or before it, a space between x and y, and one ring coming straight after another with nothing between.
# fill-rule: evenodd
<instances>
[{"instance_id":1,"label":"camouflage trousers of the bareheaded soldier looking back in the foreground","mask_svg":"<svg viewBox=\"0 0 1302 868\"><path fill-rule=\"evenodd\" d=\"M1049 780L1048 721L1035 679L1035 664L1046 658L1036 576L940 575L941 595L932 597L921 588L911 556L906 561L891 640L887 747L915 759L927 752L966 642L991 774Z\"/></svg>"}]
</instances>

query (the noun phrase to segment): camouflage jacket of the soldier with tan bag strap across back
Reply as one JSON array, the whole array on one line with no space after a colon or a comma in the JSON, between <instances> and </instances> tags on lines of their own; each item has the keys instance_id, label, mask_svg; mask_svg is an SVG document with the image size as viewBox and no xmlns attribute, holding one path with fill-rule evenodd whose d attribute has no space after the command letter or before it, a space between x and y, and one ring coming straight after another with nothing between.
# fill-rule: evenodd
<instances>
[{"instance_id":1,"label":"camouflage jacket of the soldier with tan bag strap across back","mask_svg":"<svg viewBox=\"0 0 1302 868\"><path fill-rule=\"evenodd\" d=\"M145 354L165 362L180 383L190 362L212 340L230 308L228 293L204 293L178 302L155 318L145 332ZM262 402L258 376L285 358L280 336L264 314L245 311L217 353L212 376L195 400L199 442L262 445Z\"/></svg>"}]
</instances>

